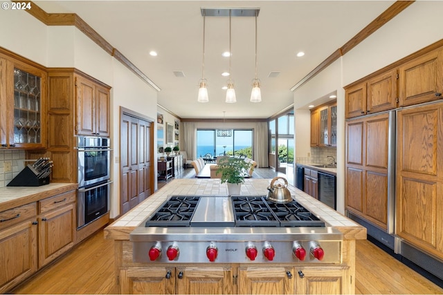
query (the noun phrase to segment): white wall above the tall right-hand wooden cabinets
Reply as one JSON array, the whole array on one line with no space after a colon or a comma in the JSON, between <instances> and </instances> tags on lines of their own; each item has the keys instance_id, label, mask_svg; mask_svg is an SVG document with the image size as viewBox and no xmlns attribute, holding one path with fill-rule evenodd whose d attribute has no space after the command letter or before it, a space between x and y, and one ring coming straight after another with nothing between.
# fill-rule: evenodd
<instances>
[{"instance_id":1,"label":"white wall above the tall right-hand wooden cabinets","mask_svg":"<svg viewBox=\"0 0 443 295\"><path fill-rule=\"evenodd\" d=\"M337 210L341 213L344 213L345 178L345 91L343 87L442 39L442 21L438 17L432 17L437 11L443 11L443 1L415 1L400 15L294 92L297 114L298 108L314 102L333 89L337 91ZM305 137L304 133L300 135L302 137L299 138L296 134L296 142L302 144L302 148L299 149L305 153L309 138Z\"/></svg>"}]
</instances>

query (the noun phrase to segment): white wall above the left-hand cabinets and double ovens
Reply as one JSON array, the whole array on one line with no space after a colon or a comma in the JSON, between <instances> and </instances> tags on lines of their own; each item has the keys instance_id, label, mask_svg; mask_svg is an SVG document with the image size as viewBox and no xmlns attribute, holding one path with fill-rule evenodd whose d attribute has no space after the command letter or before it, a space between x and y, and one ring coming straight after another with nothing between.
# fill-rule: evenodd
<instances>
[{"instance_id":1,"label":"white wall above the left-hand cabinets and double ovens","mask_svg":"<svg viewBox=\"0 0 443 295\"><path fill-rule=\"evenodd\" d=\"M156 122L156 91L73 26L49 26L20 10L0 10L0 46L46 67L75 67L111 86L111 218L119 214L120 106ZM154 124L156 129L156 123ZM155 133L156 134L156 133ZM156 148L156 140L154 140ZM156 164L154 163L154 175Z\"/></svg>"}]
</instances>

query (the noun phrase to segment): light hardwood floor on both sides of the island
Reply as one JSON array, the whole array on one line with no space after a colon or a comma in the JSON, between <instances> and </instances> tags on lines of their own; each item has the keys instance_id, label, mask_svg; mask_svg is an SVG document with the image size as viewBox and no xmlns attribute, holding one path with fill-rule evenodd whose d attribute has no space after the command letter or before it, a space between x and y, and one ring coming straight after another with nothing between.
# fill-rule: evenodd
<instances>
[{"instance_id":1,"label":"light hardwood floor on both sides of the island","mask_svg":"<svg viewBox=\"0 0 443 295\"><path fill-rule=\"evenodd\" d=\"M114 241L100 230L12 294L117 294ZM438 287L368 240L356 243L356 294L443 294Z\"/></svg>"}]
</instances>

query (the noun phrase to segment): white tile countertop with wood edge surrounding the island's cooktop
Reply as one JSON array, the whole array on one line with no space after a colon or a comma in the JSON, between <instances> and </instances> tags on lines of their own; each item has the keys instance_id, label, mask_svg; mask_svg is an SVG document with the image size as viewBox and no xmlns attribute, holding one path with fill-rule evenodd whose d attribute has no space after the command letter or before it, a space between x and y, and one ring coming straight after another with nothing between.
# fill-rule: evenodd
<instances>
[{"instance_id":1,"label":"white tile countertop with wood edge surrounding the island's cooktop","mask_svg":"<svg viewBox=\"0 0 443 295\"><path fill-rule=\"evenodd\" d=\"M271 183L271 179L245 179L242 184L240 195L262 195L266 196L267 187ZM350 220L341 213L331 209L327 205L312 198L307 193L289 186L291 196L300 204L316 214L320 219L325 221L327 226L336 227L343 233L347 239L365 239L366 229L356 222ZM125 213L105 229L107 238L123 240L129 239L129 233L143 220L150 216L169 196L172 195L213 195L227 196L228 189L226 184L220 184L219 179L175 179L165 187L156 191L149 198L138 204L134 209ZM115 231L114 233L112 231Z\"/></svg>"}]
</instances>

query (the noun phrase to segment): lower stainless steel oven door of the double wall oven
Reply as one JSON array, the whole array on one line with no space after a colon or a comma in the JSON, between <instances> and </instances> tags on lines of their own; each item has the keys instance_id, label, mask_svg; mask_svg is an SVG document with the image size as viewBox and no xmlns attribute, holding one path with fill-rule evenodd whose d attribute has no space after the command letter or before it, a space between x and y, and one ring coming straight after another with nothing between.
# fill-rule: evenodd
<instances>
[{"instance_id":1,"label":"lower stainless steel oven door of the double wall oven","mask_svg":"<svg viewBox=\"0 0 443 295\"><path fill-rule=\"evenodd\" d=\"M109 211L111 181L78 189L77 228L88 225Z\"/></svg>"}]
</instances>

